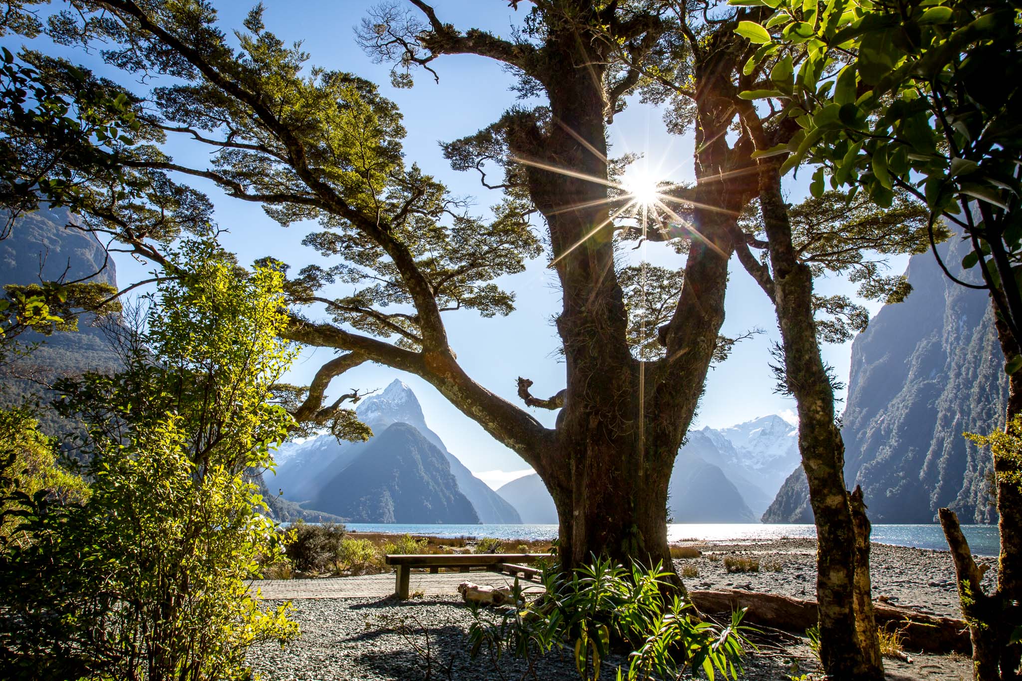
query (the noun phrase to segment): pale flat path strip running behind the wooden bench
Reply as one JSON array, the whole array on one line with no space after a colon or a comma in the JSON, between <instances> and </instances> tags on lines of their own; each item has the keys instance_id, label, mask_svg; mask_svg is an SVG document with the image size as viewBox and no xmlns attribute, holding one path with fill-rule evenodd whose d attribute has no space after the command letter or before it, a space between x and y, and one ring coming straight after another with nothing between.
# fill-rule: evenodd
<instances>
[{"instance_id":1,"label":"pale flat path strip running behind the wooden bench","mask_svg":"<svg viewBox=\"0 0 1022 681\"><path fill-rule=\"evenodd\" d=\"M439 573L413 572L410 591L422 592L431 598L449 597L460 600L458 585L462 582L479 585L504 586L514 583L514 578L496 572ZM536 582L523 580L522 587L542 589ZM298 598L365 598L389 596L393 593L393 573L364 575L362 577L323 577L320 579L264 579L251 583L267 600L294 600Z\"/></svg>"}]
</instances>

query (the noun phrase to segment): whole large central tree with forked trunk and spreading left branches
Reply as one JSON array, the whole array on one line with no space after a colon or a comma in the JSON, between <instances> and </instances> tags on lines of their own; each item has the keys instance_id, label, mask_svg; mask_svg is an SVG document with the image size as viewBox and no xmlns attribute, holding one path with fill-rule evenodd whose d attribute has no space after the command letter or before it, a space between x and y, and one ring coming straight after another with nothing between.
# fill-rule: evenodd
<instances>
[{"instance_id":1,"label":"whole large central tree with forked trunk and spreading left branches","mask_svg":"<svg viewBox=\"0 0 1022 681\"><path fill-rule=\"evenodd\" d=\"M730 231L743 203L732 191L741 178L722 177L727 121L707 118L704 126L697 198L684 230L691 240L684 283L657 334L664 354L640 358L614 267L617 218L632 197L614 187L606 145L608 121L639 74L611 65L609 56L624 45L641 58L663 30L661 9L541 2L525 30L505 40L460 32L428 5L413 4L418 14L391 8L371 20L367 45L427 68L440 54L481 54L516 70L523 87L549 101L511 109L481 136L449 149L464 160L481 158L485 147L506 165L510 191L493 220L473 217L442 185L405 166L393 105L366 81L308 67L306 54L266 30L260 8L236 34L237 49L205 3L72 0L47 26L53 38L103 41L103 58L126 77L170 77L170 84L142 97L25 51L21 60L59 95L74 98L84 84L121 102L126 111L115 115L131 118L131 133L93 138L98 144L68 155L24 118L9 116L4 126L11 144L40 159L44 175L67 171L76 192L66 202L87 215L88 229L156 261L165 260L162 243L210 220L211 204L189 178L262 204L282 225L318 221L324 231L307 243L336 264L304 269L288 292L295 303L321 305L327 318L295 312L286 335L340 354L299 396L295 416L351 433L352 411L326 400L331 379L365 361L417 374L540 473L560 515L565 567L591 551L669 565L667 480L717 346ZM399 70L397 80L407 84L407 75ZM205 146L215 152L212 161L176 161L159 146L168 136ZM527 404L561 408L554 429L467 376L444 322L457 309L511 309L512 294L493 280L521 271L541 252L527 224L535 211L548 228L548 256L563 293L557 328L565 385L550 400L529 395L524 382L520 392ZM355 284L356 293L319 292L336 279Z\"/></svg>"}]
</instances>

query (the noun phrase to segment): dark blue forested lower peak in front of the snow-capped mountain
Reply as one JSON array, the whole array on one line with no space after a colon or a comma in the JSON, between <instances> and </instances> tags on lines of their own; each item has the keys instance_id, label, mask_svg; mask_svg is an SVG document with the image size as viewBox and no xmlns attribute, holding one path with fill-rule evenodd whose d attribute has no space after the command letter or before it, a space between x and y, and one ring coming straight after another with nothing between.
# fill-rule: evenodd
<instances>
[{"instance_id":1,"label":"dark blue forested lower peak in front of the snow-capped mountain","mask_svg":"<svg viewBox=\"0 0 1022 681\"><path fill-rule=\"evenodd\" d=\"M478 523L444 452L394 423L322 486L311 506L353 523Z\"/></svg>"}]
</instances>

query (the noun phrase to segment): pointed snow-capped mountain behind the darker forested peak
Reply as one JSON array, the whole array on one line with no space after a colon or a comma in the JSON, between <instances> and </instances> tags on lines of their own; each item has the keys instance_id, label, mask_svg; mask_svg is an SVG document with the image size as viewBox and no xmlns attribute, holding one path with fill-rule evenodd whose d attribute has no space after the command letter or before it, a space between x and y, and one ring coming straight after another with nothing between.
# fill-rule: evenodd
<instances>
[{"instance_id":1,"label":"pointed snow-capped mountain behind the darker forested peak","mask_svg":"<svg viewBox=\"0 0 1022 681\"><path fill-rule=\"evenodd\" d=\"M521 523L521 518L510 503L473 476L471 471L448 451L439 436L426 426L415 393L402 381L394 380L378 395L363 399L356 414L376 434L396 423L409 424L418 430L443 452L454 475L456 488L468 497L479 522L509 525ZM300 444L286 444L278 451L277 476L270 481L270 488L280 489L286 498L294 501L311 500L327 480L351 466L373 439L369 442L339 443L332 435L321 435Z\"/></svg>"}]
</instances>

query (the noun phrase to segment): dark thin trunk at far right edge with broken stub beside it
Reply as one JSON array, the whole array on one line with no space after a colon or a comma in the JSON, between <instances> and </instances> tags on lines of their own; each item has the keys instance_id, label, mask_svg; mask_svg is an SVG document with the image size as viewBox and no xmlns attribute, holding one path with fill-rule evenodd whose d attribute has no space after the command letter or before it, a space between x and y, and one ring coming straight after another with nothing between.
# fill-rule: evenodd
<instances>
[{"instance_id":1,"label":"dark thin trunk at far right edge with broken stub beside it","mask_svg":"<svg viewBox=\"0 0 1022 681\"><path fill-rule=\"evenodd\" d=\"M991 301L991 305L992 305ZM996 307L994 306L994 312ZM1008 325L995 313L994 326L1005 359L1019 354L1019 345ZM1008 408L1005 429L1022 414L1022 372L1008 380ZM976 566L969 542L959 527L958 516L947 508L940 509L940 524L955 560L962 615L969 622L972 639L973 678L976 681L1009 681L1019 679L1020 645L1010 645L1012 632L1022 626L1019 599L1022 598L1022 489L1014 480L1019 474L1018 461L1004 456L993 457L996 477L997 529L1001 534L1001 554L997 560L997 585L987 594L980 586L985 570Z\"/></svg>"}]
</instances>

